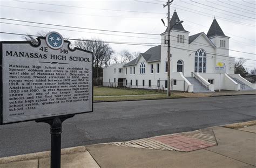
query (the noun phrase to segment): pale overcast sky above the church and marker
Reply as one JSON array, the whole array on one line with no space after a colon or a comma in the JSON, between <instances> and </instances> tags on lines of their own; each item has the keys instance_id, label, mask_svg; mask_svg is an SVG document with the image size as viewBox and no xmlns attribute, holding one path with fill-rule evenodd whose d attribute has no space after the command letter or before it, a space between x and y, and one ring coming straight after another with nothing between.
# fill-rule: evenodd
<instances>
[{"instance_id":1,"label":"pale overcast sky above the church and marker","mask_svg":"<svg viewBox=\"0 0 256 168\"><path fill-rule=\"evenodd\" d=\"M41 4L40 4L41 3ZM42 4L44 3L44 4ZM57 27L33 23L24 23L0 19L1 32L36 34L41 31L57 31L64 37L99 38L104 41L139 43L143 45L110 44L118 53L124 49L130 52L145 52L152 46L159 45L160 34L166 29L161 18L166 22L167 8L164 0L146 1L3 1L0 0L1 18L25 20L47 24L84 27L89 29L139 32L149 34L117 33ZM230 51L231 57L256 60L255 40L255 1L250 0L174 0L171 4L171 15L174 8L180 20L184 20L184 29L190 36L199 32L207 33L213 18L217 19L221 29L230 38L230 49L247 53ZM22 24L42 27L30 27ZM46 28L43 28L46 27ZM66 30L58 30L66 29ZM68 31L69 30L69 31ZM100 34L106 33L106 34ZM133 36L133 37L127 37ZM140 37L140 38L139 38ZM0 33L0 40L22 40L21 36ZM154 44L145 44L154 43ZM256 61L247 60L245 67L253 69Z\"/></svg>"}]
</instances>

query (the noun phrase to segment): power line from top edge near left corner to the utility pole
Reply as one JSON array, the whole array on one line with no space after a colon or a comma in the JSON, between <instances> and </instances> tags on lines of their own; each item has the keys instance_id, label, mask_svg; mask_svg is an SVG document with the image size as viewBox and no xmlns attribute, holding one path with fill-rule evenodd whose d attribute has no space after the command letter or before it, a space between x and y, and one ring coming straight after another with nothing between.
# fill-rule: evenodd
<instances>
[{"instance_id":1,"label":"power line from top edge near left corner to the utility pole","mask_svg":"<svg viewBox=\"0 0 256 168\"><path fill-rule=\"evenodd\" d=\"M49 3L28 2L28 1L17 1L17 2L33 3L33 4L43 4L43 5L52 5L52 6L64 6L64 7L82 8L82 9L97 9L97 10L106 10L106 11L120 11L120 12L134 12L134 13L166 14L166 13L159 13L159 12L145 12L145 11L130 11L130 10L117 10L117 9L89 8L89 7L83 7L83 6L60 5L60 4L49 4Z\"/></svg>"}]
</instances>

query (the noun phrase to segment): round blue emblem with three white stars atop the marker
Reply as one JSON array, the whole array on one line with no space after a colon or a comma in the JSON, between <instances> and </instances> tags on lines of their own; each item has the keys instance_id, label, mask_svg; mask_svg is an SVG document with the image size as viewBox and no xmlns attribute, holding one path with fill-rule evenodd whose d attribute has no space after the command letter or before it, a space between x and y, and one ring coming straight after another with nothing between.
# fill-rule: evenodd
<instances>
[{"instance_id":1,"label":"round blue emblem with three white stars atop the marker","mask_svg":"<svg viewBox=\"0 0 256 168\"><path fill-rule=\"evenodd\" d=\"M57 50L63 46L64 41L62 35L58 32L49 32L46 35L46 43L52 49Z\"/></svg>"}]
</instances>

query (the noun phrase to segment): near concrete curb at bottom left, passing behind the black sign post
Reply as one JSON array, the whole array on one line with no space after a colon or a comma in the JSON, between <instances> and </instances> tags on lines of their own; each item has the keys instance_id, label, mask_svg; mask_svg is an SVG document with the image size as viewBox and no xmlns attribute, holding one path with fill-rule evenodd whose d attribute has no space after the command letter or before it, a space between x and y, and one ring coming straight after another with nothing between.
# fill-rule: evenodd
<instances>
[{"instance_id":1,"label":"near concrete curb at bottom left, passing behind the black sign post","mask_svg":"<svg viewBox=\"0 0 256 168\"><path fill-rule=\"evenodd\" d=\"M71 153L86 152L86 151L87 149L85 148L85 146L77 146L77 147L62 149L61 155L69 155ZM50 151L45 151L45 152L29 153L25 155L4 157L4 158L0 158L0 164L47 158L47 157L50 157L50 153L51 153Z\"/></svg>"}]
</instances>

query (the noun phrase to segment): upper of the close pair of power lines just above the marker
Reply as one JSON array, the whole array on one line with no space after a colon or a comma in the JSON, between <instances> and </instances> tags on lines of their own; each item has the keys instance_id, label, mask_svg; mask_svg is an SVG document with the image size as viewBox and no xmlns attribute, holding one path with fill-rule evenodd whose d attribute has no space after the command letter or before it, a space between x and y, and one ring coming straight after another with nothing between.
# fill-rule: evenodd
<instances>
[{"instance_id":1,"label":"upper of the close pair of power lines just above the marker","mask_svg":"<svg viewBox=\"0 0 256 168\"><path fill-rule=\"evenodd\" d=\"M130 33L130 34L146 34L146 35L154 35L154 36L157 35L157 36L159 36L159 34L153 34L153 33L139 33L139 32L126 32L126 31L113 31L113 30L103 30L103 29L91 29L91 28L86 28L86 27L75 27L75 26L65 26L65 25L57 25L57 24L49 24L49 23L30 22L30 21L26 21L26 20L9 19L9 18L2 18L2 17L0 17L0 19L12 20L12 21L17 21L17 22L25 22L25 23L33 23L33 24L50 25L50 26L69 27L69 28L75 28L75 29L107 31L107 32L116 32L116 33Z\"/></svg>"}]
</instances>

